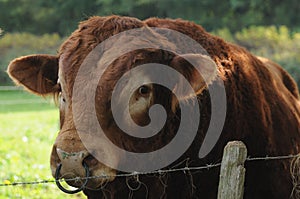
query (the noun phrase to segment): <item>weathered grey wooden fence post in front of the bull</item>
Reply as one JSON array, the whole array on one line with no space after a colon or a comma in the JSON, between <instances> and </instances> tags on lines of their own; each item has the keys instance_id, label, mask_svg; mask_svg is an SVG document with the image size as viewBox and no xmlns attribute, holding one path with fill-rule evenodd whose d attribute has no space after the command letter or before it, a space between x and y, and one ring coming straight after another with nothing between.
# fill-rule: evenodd
<instances>
[{"instance_id":1,"label":"weathered grey wooden fence post in front of the bull","mask_svg":"<svg viewBox=\"0 0 300 199\"><path fill-rule=\"evenodd\" d=\"M229 142L225 148L221 164L218 199L242 199L244 194L244 162L247 148L243 142Z\"/></svg>"}]
</instances>

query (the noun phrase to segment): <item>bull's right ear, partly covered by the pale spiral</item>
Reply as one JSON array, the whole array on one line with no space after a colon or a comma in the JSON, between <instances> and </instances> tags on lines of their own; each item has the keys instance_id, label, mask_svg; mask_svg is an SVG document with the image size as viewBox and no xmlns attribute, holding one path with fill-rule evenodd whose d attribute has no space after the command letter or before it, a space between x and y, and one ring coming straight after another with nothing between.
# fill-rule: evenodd
<instances>
[{"instance_id":1,"label":"bull's right ear, partly covered by the pale spiral","mask_svg":"<svg viewBox=\"0 0 300 199\"><path fill-rule=\"evenodd\" d=\"M170 66L184 76L196 94L200 94L218 75L215 62L209 56L202 54L177 55L171 60ZM177 96L179 99L172 100L173 110L178 104L177 100L189 97L186 93L186 84L182 79L179 80L175 89L180 95Z\"/></svg>"}]
</instances>

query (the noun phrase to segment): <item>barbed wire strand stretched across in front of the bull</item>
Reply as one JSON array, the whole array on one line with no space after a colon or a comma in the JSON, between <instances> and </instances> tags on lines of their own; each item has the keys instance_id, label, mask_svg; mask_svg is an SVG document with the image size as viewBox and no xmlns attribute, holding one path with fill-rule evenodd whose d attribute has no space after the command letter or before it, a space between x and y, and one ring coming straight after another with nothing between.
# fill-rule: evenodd
<instances>
[{"instance_id":1,"label":"barbed wire strand stretched across in front of the bull","mask_svg":"<svg viewBox=\"0 0 300 199\"><path fill-rule=\"evenodd\" d=\"M300 157L300 154L297 155L284 155L284 156L266 156L266 157L247 157L246 162L250 161L270 161L270 160L286 160L286 159L293 159ZM37 180L31 182L8 182L0 184L0 187L9 187L9 186L24 186L24 185L37 185L37 184L49 184L55 183L57 181L78 181L78 180L89 180L89 179L97 179L97 178L109 178L109 177L131 177L137 175L151 175L151 174L166 174L166 173L174 173L174 172L188 172L188 171L199 171L199 170L209 170L215 167L220 167L221 162L216 164L208 164L204 166L198 167L181 167L181 168L172 168L172 169L162 169L162 170L155 170L149 172L132 172L132 173L122 173L116 174L114 176L108 175L97 175L97 176L90 176L90 177L75 177L75 178L68 178L68 179L60 179L60 180Z\"/></svg>"}]
</instances>

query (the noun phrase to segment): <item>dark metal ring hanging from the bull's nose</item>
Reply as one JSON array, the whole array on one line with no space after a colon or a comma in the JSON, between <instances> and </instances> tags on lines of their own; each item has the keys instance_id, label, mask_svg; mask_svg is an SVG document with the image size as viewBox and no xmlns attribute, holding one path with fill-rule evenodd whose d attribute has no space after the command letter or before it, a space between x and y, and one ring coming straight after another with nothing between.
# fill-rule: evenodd
<instances>
[{"instance_id":1,"label":"dark metal ring hanging from the bull's nose","mask_svg":"<svg viewBox=\"0 0 300 199\"><path fill-rule=\"evenodd\" d=\"M67 194L75 194L75 193L78 193L78 192L82 191L82 190L85 188L85 186L87 185L87 183L88 183L88 181L89 181L90 171L89 171L89 167L87 166L87 164L85 164L85 163L83 162L82 165L83 165L83 167L84 167L84 169L85 169L85 181L84 181L84 183L82 184L81 187L79 187L78 189L75 189L75 190L68 190L68 189L64 188L64 187L60 184L60 181L59 181L59 174L60 174L60 170L61 170L62 164L59 164L59 165L58 165L58 167L57 167L57 169L56 169L56 172L55 172L55 183L56 183L57 187L58 187L61 191L65 192L65 193L67 193ZM68 181L68 179L66 179L66 181Z\"/></svg>"}]
</instances>

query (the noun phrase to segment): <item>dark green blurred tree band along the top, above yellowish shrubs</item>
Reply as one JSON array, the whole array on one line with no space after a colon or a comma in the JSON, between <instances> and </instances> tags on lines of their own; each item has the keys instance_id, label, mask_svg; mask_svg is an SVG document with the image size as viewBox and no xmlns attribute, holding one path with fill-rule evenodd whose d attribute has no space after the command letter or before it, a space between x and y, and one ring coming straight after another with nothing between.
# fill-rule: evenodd
<instances>
[{"instance_id":1,"label":"dark green blurred tree band along the top, above yellowish shrubs","mask_svg":"<svg viewBox=\"0 0 300 199\"><path fill-rule=\"evenodd\" d=\"M92 15L183 18L207 30L235 32L251 25L286 25L300 29L298 0L0 0L5 31L67 35Z\"/></svg>"}]
</instances>

